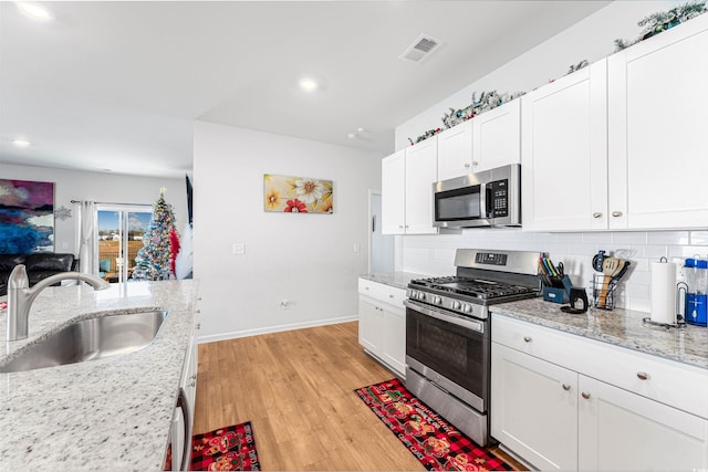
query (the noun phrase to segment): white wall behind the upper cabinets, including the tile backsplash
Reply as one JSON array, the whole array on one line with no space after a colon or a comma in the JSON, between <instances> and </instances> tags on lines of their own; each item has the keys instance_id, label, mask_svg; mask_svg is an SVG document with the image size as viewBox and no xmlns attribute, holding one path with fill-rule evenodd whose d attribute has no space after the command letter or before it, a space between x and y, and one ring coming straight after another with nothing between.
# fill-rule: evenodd
<instances>
[{"instance_id":1,"label":"white wall behind the upper cabinets, including the tile backsplash","mask_svg":"<svg viewBox=\"0 0 708 472\"><path fill-rule=\"evenodd\" d=\"M580 21L554 38L529 50L487 76L396 128L396 149L408 146L426 129L440 126L440 117L449 107L461 108L470 103L476 91L531 91L549 80L560 77L571 64L583 59L597 61L614 52L614 40L634 40L641 32L637 21L646 15L670 9L681 1L616 1ZM649 261L666 256L674 262L694 254L708 254L708 231L525 233L518 229L465 230L426 237L400 237L397 240L396 269L431 275L455 272L457 248L510 249L543 251L554 262L563 261L573 283L590 286L592 256L598 250L631 251L632 269L621 284L617 306L649 311Z\"/></svg>"}]
</instances>

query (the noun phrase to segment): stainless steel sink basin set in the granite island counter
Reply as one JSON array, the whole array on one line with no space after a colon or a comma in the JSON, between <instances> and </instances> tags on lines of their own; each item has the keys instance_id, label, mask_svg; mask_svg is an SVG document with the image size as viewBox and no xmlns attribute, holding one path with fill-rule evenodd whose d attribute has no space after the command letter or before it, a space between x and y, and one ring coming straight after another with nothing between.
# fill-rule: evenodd
<instances>
[{"instance_id":1,"label":"stainless steel sink basin set in the granite island counter","mask_svg":"<svg viewBox=\"0 0 708 472\"><path fill-rule=\"evenodd\" d=\"M150 344L167 318L166 311L101 315L64 326L29 345L0 373L17 373L121 356Z\"/></svg>"}]
</instances>

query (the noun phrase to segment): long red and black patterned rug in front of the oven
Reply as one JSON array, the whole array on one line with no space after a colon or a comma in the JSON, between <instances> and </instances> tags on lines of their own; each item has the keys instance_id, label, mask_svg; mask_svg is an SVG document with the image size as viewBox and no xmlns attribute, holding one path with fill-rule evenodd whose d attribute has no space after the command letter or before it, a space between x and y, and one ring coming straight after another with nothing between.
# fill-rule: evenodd
<instances>
[{"instance_id":1,"label":"long red and black patterned rug in front of the oven","mask_svg":"<svg viewBox=\"0 0 708 472\"><path fill-rule=\"evenodd\" d=\"M512 471L393 379L354 390L429 471Z\"/></svg>"}]
</instances>

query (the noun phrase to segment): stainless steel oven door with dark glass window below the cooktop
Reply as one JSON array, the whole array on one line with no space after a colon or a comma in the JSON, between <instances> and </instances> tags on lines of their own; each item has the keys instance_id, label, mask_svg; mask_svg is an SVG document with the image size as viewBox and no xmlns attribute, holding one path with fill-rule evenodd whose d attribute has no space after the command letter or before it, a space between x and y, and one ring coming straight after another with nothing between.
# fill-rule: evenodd
<instances>
[{"instance_id":1,"label":"stainless steel oven door with dark glass window below the cooktop","mask_svg":"<svg viewBox=\"0 0 708 472\"><path fill-rule=\"evenodd\" d=\"M488 319L475 319L406 300L408 366L481 413L489 397Z\"/></svg>"}]
</instances>

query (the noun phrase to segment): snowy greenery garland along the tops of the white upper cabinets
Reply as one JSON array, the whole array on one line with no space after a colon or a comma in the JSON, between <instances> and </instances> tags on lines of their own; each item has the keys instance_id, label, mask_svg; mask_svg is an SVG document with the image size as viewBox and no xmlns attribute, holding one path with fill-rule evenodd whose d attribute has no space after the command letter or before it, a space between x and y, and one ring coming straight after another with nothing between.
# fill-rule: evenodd
<instances>
[{"instance_id":1,"label":"snowy greenery garland along the tops of the white upper cabinets","mask_svg":"<svg viewBox=\"0 0 708 472\"><path fill-rule=\"evenodd\" d=\"M671 29L677 24L684 23L693 18L696 18L702 13L708 11L706 8L706 0L697 0L694 2L688 2L681 6L674 7L668 11L660 11L656 13L652 13L648 17L639 20L637 24L639 27L644 27L644 30L639 34L639 36L634 41L625 41L623 39L615 40L615 52L622 51L625 48L628 48L633 44L636 44L641 41L646 40L647 38L652 38L663 31ZM573 72L580 71L581 69L590 65L590 62L584 59L577 64L571 64L568 73L565 75L572 74ZM551 80L550 82L553 82ZM416 143L420 143L429 137L437 135L444 129L451 128L452 126L457 126L462 122L466 122L481 113L488 112L492 108L498 107L509 101L520 97L525 92L514 92L514 93L503 93L501 95L497 94L497 91L492 92L482 92L479 99L475 99L475 94L472 93L472 103L466 108L455 109L450 108L449 114L445 114L442 116L442 124L445 128L435 128L428 129L423 135L418 136L416 140L408 138L410 145L413 146Z\"/></svg>"}]
</instances>

